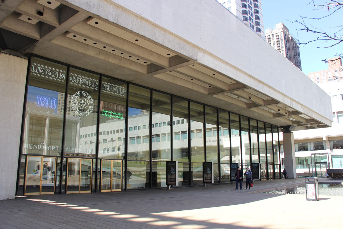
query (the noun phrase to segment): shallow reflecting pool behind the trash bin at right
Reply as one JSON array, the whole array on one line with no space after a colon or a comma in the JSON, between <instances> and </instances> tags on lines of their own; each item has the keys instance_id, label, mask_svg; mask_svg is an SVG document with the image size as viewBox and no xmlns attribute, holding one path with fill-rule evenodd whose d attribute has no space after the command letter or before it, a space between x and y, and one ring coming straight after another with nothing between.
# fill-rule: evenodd
<instances>
[{"instance_id":1,"label":"shallow reflecting pool behind the trash bin at right","mask_svg":"<svg viewBox=\"0 0 343 229\"><path fill-rule=\"evenodd\" d=\"M319 195L327 196L343 196L343 184L318 184ZM305 185L286 188L281 190L275 190L270 192L271 194L306 194Z\"/></svg>"}]
</instances>

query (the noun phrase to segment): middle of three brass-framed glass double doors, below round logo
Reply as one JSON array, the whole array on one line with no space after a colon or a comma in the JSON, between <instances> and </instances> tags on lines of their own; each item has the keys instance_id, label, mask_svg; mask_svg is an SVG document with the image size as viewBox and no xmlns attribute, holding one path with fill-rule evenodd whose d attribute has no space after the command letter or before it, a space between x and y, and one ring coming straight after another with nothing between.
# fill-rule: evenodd
<instances>
[{"instance_id":1,"label":"middle of three brass-framed glass double doors, below round logo","mask_svg":"<svg viewBox=\"0 0 343 229\"><path fill-rule=\"evenodd\" d=\"M68 158L67 193L91 192L92 159Z\"/></svg>"}]
</instances>

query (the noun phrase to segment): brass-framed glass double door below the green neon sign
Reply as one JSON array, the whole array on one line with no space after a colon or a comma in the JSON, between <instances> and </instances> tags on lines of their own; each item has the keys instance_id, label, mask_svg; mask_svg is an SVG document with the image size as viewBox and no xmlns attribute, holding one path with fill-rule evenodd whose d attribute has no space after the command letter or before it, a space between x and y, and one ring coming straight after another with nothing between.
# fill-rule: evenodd
<instances>
[{"instance_id":1,"label":"brass-framed glass double door below the green neon sign","mask_svg":"<svg viewBox=\"0 0 343 229\"><path fill-rule=\"evenodd\" d=\"M101 169L101 192L121 191L121 161L102 160Z\"/></svg>"}]
</instances>

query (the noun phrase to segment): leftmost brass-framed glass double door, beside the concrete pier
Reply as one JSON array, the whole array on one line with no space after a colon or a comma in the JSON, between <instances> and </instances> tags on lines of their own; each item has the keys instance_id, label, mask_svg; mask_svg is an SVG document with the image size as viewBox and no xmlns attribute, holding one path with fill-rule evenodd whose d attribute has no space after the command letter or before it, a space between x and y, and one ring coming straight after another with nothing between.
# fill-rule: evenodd
<instances>
[{"instance_id":1,"label":"leftmost brass-framed glass double door, beside the concrete pier","mask_svg":"<svg viewBox=\"0 0 343 229\"><path fill-rule=\"evenodd\" d=\"M56 158L27 156L24 195L55 193Z\"/></svg>"}]
</instances>

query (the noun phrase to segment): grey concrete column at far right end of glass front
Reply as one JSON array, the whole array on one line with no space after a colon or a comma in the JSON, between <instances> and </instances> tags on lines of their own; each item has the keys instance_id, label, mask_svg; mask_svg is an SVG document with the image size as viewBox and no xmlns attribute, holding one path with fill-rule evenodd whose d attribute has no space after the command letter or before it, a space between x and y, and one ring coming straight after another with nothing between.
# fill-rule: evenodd
<instances>
[{"instance_id":1,"label":"grey concrete column at far right end of glass front","mask_svg":"<svg viewBox=\"0 0 343 229\"><path fill-rule=\"evenodd\" d=\"M294 136L290 130L283 132L283 152L288 178L296 178Z\"/></svg>"}]
</instances>

